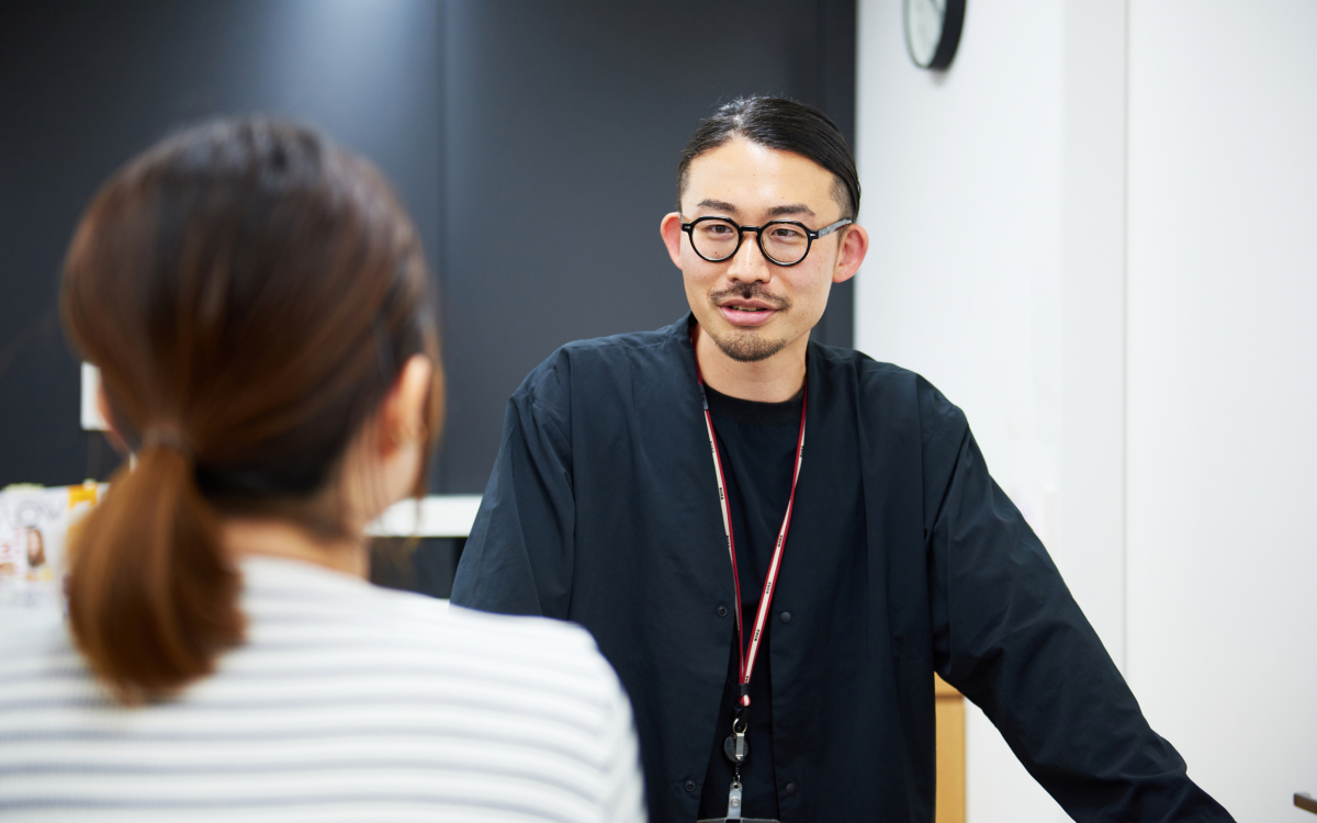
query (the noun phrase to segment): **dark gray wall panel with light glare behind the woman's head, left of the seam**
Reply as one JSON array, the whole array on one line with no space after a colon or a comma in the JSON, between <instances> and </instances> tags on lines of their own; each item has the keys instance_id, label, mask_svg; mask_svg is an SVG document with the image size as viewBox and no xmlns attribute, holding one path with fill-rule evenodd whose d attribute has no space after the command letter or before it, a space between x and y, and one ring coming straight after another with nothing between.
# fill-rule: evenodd
<instances>
[{"instance_id":1,"label":"dark gray wall panel with light glare behind the woman's head, left of the seam","mask_svg":"<svg viewBox=\"0 0 1317 823\"><path fill-rule=\"evenodd\" d=\"M443 9L423 0L0 4L0 485L104 478L55 308L96 187L171 129L298 117L369 155L441 248Z\"/></svg>"}]
</instances>

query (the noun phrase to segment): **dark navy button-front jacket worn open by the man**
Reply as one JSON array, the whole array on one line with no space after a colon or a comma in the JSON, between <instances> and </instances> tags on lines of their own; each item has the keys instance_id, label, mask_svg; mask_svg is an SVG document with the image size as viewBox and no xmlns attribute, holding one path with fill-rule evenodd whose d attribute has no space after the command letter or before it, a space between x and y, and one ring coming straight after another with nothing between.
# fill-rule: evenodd
<instances>
[{"instance_id":1,"label":"dark navy button-front jacket worn open by the man","mask_svg":"<svg viewBox=\"0 0 1317 823\"><path fill-rule=\"evenodd\" d=\"M527 377L453 585L453 603L594 633L660 822L695 819L734 632L691 323L574 342ZM774 598L793 619L769 648L782 820L931 822L934 672L1073 818L1229 820L1143 719L961 411L848 349L811 342L806 369ZM830 473L857 479L863 545L810 540L856 510Z\"/></svg>"}]
</instances>

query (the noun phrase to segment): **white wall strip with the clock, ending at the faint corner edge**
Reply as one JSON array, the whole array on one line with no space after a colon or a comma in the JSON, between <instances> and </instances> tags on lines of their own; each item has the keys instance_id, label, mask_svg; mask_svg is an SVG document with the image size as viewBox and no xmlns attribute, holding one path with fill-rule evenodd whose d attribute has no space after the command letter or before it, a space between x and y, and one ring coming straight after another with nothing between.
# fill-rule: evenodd
<instances>
[{"instance_id":1,"label":"white wall strip with the clock, ending at the faint corner edge","mask_svg":"<svg viewBox=\"0 0 1317 823\"><path fill-rule=\"evenodd\" d=\"M1062 16L1046 1L975 4L940 75L906 57L900 7L860 8L856 149L872 250L856 344L965 408L1002 486L1051 532Z\"/></svg>"}]
</instances>

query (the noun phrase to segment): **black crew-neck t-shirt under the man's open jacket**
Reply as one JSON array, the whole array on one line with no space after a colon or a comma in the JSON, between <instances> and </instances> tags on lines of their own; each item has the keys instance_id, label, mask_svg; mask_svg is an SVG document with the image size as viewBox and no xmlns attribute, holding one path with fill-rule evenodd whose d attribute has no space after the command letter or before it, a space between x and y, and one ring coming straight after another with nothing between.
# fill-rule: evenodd
<instances>
[{"instance_id":1,"label":"black crew-neck t-shirt under the man's open jacket","mask_svg":"<svg viewBox=\"0 0 1317 823\"><path fill-rule=\"evenodd\" d=\"M785 403L756 403L719 394L709 386L705 387L705 396L714 419L718 456L727 485L736 570L740 577L741 620L748 637L753 631L755 612L764 591L764 575L772 562L777 532L792 496L792 470L795 467L795 444L801 433L805 398L798 394ZM788 535L785 550L790 550L790 544ZM749 756L741 766L741 815L747 818L778 816L773 776L773 673L768 653L772 625L778 615L770 612L768 618L749 682ZM722 818L727 814L727 793L734 772L723 755L723 741L731 733L732 706L739 694L738 640L734 629L727 682L699 799L701 818Z\"/></svg>"}]
</instances>

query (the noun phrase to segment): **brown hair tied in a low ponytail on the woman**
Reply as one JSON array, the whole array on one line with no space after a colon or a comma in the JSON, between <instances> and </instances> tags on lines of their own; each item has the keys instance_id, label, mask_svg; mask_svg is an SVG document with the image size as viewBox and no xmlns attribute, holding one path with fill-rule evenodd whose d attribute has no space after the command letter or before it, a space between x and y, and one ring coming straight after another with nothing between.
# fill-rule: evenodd
<instances>
[{"instance_id":1,"label":"brown hair tied in a low ponytail on the woman","mask_svg":"<svg viewBox=\"0 0 1317 823\"><path fill-rule=\"evenodd\" d=\"M241 643L224 515L346 536L333 481L419 353L435 363L433 445L443 378L427 283L379 173L296 125L188 129L95 196L61 309L136 466L72 539L68 616L120 701L175 693Z\"/></svg>"}]
</instances>

